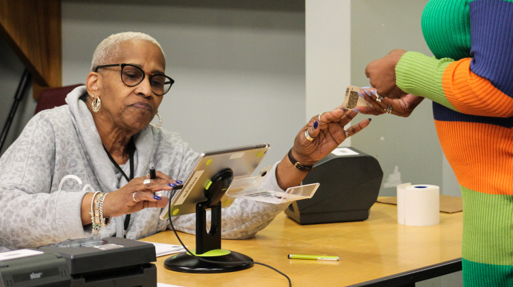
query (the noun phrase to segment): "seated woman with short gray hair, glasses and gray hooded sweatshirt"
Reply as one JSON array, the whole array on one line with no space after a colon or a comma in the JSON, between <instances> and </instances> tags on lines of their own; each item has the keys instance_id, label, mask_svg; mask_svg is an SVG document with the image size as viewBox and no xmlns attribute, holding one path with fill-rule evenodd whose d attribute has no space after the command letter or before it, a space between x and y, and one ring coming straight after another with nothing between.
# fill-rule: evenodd
<instances>
[{"instance_id":1,"label":"seated woman with short gray hair, glasses and gray hooded sweatshirt","mask_svg":"<svg viewBox=\"0 0 513 287\"><path fill-rule=\"evenodd\" d=\"M0 245L138 239L169 227L159 219L169 199L153 192L185 180L198 153L176 133L150 124L174 82L165 67L161 46L144 33L114 34L98 45L86 85L68 94L67 105L35 115L0 159ZM263 186L300 184L307 174L301 165L313 165L369 124L345 131L355 115L337 108L313 117L296 135L292 159L276 163ZM157 178L148 183L149 163ZM249 238L286 206L236 200L223 210L222 236ZM193 233L194 216L173 217L174 226Z\"/></svg>"}]
</instances>

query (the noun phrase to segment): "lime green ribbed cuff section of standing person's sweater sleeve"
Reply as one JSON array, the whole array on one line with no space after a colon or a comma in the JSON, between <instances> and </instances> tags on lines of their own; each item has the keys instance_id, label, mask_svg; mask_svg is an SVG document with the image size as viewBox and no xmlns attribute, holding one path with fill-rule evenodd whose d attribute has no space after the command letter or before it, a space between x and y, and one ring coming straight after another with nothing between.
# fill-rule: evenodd
<instances>
[{"instance_id":1,"label":"lime green ribbed cuff section of standing person's sweater sleeve","mask_svg":"<svg viewBox=\"0 0 513 287\"><path fill-rule=\"evenodd\" d=\"M408 94L429 98L455 111L445 97L442 74L453 59L436 59L418 52L406 52L395 66L397 87Z\"/></svg>"}]
</instances>

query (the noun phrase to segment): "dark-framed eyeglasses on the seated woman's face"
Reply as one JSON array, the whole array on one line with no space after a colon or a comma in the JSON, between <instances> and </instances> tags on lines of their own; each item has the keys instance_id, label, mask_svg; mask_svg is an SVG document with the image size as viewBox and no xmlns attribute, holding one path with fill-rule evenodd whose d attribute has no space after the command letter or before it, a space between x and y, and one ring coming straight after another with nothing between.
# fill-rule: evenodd
<instances>
[{"instance_id":1,"label":"dark-framed eyeglasses on the seated woman's face","mask_svg":"<svg viewBox=\"0 0 513 287\"><path fill-rule=\"evenodd\" d=\"M98 72L99 68L118 66L121 67L121 81L129 87L135 87L136 85L139 85L142 82L142 80L144 80L144 76L148 74L148 76L150 77L149 79L151 90L157 96L163 96L163 94L166 94L174 83L174 80L166 76L165 74L152 74L150 72L144 72L142 68L139 68L132 64L111 64L97 66L94 69L94 72Z\"/></svg>"}]
</instances>

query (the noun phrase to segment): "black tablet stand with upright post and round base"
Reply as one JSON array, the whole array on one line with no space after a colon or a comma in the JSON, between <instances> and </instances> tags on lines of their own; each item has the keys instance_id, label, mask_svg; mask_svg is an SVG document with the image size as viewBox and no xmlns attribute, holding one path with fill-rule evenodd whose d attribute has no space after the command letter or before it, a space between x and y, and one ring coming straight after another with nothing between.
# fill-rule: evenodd
<instances>
[{"instance_id":1,"label":"black tablet stand with upright post and round base","mask_svg":"<svg viewBox=\"0 0 513 287\"><path fill-rule=\"evenodd\" d=\"M211 178L205 188L207 201L196 204L196 250L191 250L195 256L187 252L176 254L164 261L166 269L187 273L224 273L253 266L253 260L249 256L221 249L221 197L232 180L231 169L223 169ZM208 209L211 210L211 225L207 232Z\"/></svg>"}]
</instances>

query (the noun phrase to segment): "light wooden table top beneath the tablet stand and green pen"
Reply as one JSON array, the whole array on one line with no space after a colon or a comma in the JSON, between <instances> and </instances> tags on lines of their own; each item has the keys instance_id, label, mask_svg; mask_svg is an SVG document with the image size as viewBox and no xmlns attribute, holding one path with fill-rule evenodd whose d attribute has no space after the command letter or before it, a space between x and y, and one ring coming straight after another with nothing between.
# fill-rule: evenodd
<instances>
[{"instance_id":1,"label":"light wooden table top beneath the tablet stand and green pen","mask_svg":"<svg viewBox=\"0 0 513 287\"><path fill-rule=\"evenodd\" d=\"M194 236L179 232L195 248ZM284 213L247 240L223 240L222 248L246 254L287 274L293 286L411 286L461 270L462 213L440 213L436 226L402 226L397 207L376 203L366 221L302 226ZM172 231L145 241L179 244ZM287 254L340 256L337 262L290 260ZM282 275L255 264L244 271L180 273L157 258L157 281L179 286L287 286ZM363 283L365 282L365 283Z\"/></svg>"}]
</instances>

